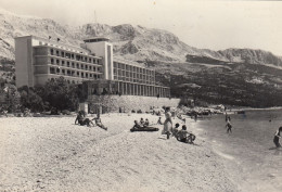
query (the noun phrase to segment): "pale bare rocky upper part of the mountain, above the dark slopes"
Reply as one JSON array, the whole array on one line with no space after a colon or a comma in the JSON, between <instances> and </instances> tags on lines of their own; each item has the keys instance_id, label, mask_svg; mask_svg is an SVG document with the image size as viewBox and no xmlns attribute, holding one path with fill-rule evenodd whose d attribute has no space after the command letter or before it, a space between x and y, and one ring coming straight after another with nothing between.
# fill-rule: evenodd
<instances>
[{"instance_id":1,"label":"pale bare rocky upper part of the mountain, above the dark slopes","mask_svg":"<svg viewBox=\"0 0 282 192\"><path fill-rule=\"evenodd\" d=\"M282 66L282 59L270 52L249 49L223 51L196 49L180 41L178 37L166 30L134 27L129 24L118 26L86 24L73 27L52 20L16 15L0 9L0 57L14 60L14 38L24 35L44 38L51 36L54 39L59 37L62 42L75 46L87 37L106 36L112 40L117 56L132 61L178 63L185 62L188 57L188 61L192 63L215 60Z\"/></svg>"}]
</instances>

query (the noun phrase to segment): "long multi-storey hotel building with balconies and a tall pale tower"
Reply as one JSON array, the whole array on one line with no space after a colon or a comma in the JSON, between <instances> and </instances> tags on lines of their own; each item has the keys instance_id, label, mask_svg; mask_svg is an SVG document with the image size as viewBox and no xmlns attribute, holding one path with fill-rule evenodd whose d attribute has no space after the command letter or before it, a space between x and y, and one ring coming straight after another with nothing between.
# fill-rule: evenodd
<instances>
[{"instance_id":1,"label":"long multi-storey hotel building with balconies and a tall pale tower","mask_svg":"<svg viewBox=\"0 0 282 192\"><path fill-rule=\"evenodd\" d=\"M95 37L80 47L36 36L15 38L16 86L34 87L63 76L69 84L87 86L92 94L170 97L168 87L156 86L155 71L116 59L110 39Z\"/></svg>"}]
</instances>

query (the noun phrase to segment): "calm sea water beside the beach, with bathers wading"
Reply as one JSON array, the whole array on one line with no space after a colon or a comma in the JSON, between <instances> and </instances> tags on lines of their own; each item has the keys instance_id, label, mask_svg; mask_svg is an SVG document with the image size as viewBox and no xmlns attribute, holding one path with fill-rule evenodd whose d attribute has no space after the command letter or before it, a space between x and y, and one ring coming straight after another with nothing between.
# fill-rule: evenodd
<instances>
[{"instance_id":1,"label":"calm sea water beside the beach, with bathers wading","mask_svg":"<svg viewBox=\"0 0 282 192\"><path fill-rule=\"evenodd\" d=\"M232 133L227 133L226 115L196 121L222 157L229 178L241 191L282 192L282 150L273 143L274 132L282 126L282 110L230 112L229 116Z\"/></svg>"}]
</instances>

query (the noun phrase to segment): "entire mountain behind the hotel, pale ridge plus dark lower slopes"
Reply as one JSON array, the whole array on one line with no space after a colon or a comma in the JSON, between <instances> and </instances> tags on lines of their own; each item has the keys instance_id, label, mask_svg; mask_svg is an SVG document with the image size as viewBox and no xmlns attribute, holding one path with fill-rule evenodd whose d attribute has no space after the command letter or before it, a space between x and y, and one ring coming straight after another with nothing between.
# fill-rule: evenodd
<instances>
[{"instance_id":1,"label":"entire mountain behind the hotel, pale ridge plus dark lower slopes","mask_svg":"<svg viewBox=\"0 0 282 192\"><path fill-rule=\"evenodd\" d=\"M282 106L282 57L271 52L197 49L166 30L129 24L73 27L0 9L0 62L7 64L0 74L10 79L14 71L14 38L25 35L51 36L73 46L88 37L105 36L114 44L115 56L155 68L158 84L170 86L172 97L241 106Z\"/></svg>"}]
</instances>

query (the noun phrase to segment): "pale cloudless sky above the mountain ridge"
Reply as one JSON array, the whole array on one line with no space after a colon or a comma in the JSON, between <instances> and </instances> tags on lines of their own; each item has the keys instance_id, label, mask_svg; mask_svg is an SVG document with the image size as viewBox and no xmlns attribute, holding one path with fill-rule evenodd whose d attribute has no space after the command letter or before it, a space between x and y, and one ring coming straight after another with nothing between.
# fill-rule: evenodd
<instances>
[{"instance_id":1,"label":"pale cloudless sky above the mountain ridge","mask_svg":"<svg viewBox=\"0 0 282 192\"><path fill-rule=\"evenodd\" d=\"M61 24L131 24L175 34L189 46L251 48L282 56L282 2L238 0L0 0L15 14Z\"/></svg>"}]
</instances>

